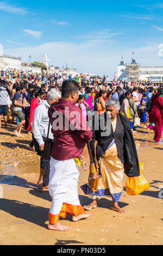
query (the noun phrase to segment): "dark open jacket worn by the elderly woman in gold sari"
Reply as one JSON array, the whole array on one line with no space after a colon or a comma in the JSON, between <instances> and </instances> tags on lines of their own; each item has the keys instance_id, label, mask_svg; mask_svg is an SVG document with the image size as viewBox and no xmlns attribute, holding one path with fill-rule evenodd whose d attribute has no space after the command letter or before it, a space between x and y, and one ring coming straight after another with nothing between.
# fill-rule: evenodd
<instances>
[{"instance_id":1,"label":"dark open jacket worn by the elderly woman in gold sari","mask_svg":"<svg viewBox=\"0 0 163 256\"><path fill-rule=\"evenodd\" d=\"M97 129L97 123L99 122L99 129ZM102 125L101 125L102 124ZM104 126L103 126L104 124ZM101 127L103 126L103 127ZM96 130L97 129L97 130ZM104 131L107 133L103 133ZM92 141L90 142L90 146L92 149L92 154L95 156L94 153L94 144L95 141L98 141L96 147L96 155L100 157L104 155L106 149L109 147L112 139L115 139L117 151L118 151L118 159L124 165L124 173L127 176L139 176L140 169L139 169L139 160L137 157L137 151L135 147L134 138L130 129L130 123L127 117L118 113L117 115L117 126L115 133L112 130L110 120L106 123L106 113L99 115L98 118L93 121L92 125Z\"/></svg>"}]
</instances>

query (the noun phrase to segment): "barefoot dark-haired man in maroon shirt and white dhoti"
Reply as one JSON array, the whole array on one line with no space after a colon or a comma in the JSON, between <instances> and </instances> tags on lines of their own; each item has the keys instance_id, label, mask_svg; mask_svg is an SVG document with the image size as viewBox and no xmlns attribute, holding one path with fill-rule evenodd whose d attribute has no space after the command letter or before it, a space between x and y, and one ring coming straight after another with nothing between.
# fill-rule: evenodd
<instances>
[{"instance_id":1,"label":"barefoot dark-haired man in maroon shirt and white dhoti","mask_svg":"<svg viewBox=\"0 0 163 256\"><path fill-rule=\"evenodd\" d=\"M61 99L48 111L51 120L54 143L51 153L49 193L52 205L49 210L48 229L68 231L71 228L59 223L59 216L72 214L72 221L87 218L78 198L77 160L81 157L92 131L75 106L78 100L78 83L66 80L62 83Z\"/></svg>"}]
</instances>

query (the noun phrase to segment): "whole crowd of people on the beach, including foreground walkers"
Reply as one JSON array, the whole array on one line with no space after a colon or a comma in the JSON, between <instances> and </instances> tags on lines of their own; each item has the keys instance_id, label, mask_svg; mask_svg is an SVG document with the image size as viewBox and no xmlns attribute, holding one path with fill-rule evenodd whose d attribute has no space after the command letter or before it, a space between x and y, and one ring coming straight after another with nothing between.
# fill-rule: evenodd
<instances>
[{"instance_id":1,"label":"whole crowd of people on the beach, including foreground walkers","mask_svg":"<svg viewBox=\"0 0 163 256\"><path fill-rule=\"evenodd\" d=\"M32 77L32 80L19 77L12 83L1 74L0 127L3 115L6 128L8 121L14 122L16 118L16 137L23 136L22 129L32 134L29 146L41 157L37 189L43 191L48 188L52 196L48 228L70 230L70 227L60 224L59 217L72 214L74 222L87 218L90 214L84 209L96 208L97 199L105 195L112 197L112 210L124 213L118 206L123 190L123 173L140 175L133 135L136 136L136 126L143 126L155 133L155 142L160 141L163 86L156 88L149 84L142 88L140 83L122 81L109 84L108 77L103 77L99 83L97 78L89 75L69 76L67 79L57 74L49 83L44 78L45 75ZM69 109L68 115L66 108ZM76 122L73 112L78 113ZM58 122L56 113L66 117L62 129L55 129L54 124ZM94 117L91 121L88 118L90 113ZM101 133L101 126L95 129L95 116L99 117L99 122L106 123L107 115L111 131L105 136ZM68 129L66 120L71 124ZM140 120L140 124L135 120ZM98 159L102 178L96 191L92 191L89 184L82 186L84 193L92 199L90 205L83 207L77 189L78 165L89 142L93 156ZM51 151L51 160L45 159L46 143Z\"/></svg>"}]
</instances>

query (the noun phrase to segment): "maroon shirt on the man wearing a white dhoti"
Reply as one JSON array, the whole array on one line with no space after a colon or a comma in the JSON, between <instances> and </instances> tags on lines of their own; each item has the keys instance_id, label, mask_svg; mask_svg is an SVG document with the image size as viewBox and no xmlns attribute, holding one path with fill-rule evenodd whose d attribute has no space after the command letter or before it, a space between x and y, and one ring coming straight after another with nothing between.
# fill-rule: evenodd
<instances>
[{"instance_id":1,"label":"maroon shirt on the man wearing a white dhoti","mask_svg":"<svg viewBox=\"0 0 163 256\"><path fill-rule=\"evenodd\" d=\"M70 100L59 99L48 110L54 136L51 156L55 160L81 157L86 142L92 138L92 131L75 104Z\"/></svg>"}]
</instances>

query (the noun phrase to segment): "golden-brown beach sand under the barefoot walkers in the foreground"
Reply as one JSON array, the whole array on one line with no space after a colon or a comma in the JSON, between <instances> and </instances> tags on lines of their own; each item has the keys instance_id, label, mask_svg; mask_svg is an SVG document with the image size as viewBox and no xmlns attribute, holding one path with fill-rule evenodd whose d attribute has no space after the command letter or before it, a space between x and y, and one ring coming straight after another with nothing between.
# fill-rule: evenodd
<instances>
[{"instance_id":1,"label":"golden-brown beach sand under the barefoot walkers in the foreground","mask_svg":"<svg viewBox=\"0 0 163 256\"><path fill-rule=\"evenodd\" d=\"M4 129L0 130L0 135L2 133ZM10 133L12 134L12 131ZM3 135L0 138L2 137L5 140ZM8 137L10 139L10 136ZM23 143L16 142L18 140L30 143L30 137L27 135L21 139L11 137L10 143L23 145ZM14 158L8 151L6 156L11 160L10 166L8 163L3 165L2 162L6 160L1 157L0 185L3 187L3 198L0 199L0 244L163 245L163 143L156 144L152 142L152 139L150 141L149 138L143 138L137 138L136 145L139 161L145 164L143 174L150 184L149 189L137 196L129 196L125 191L127 176L124 174L124 191L119 205L126 210L126 214L110 210L111 198L104 197L98 201L98 207L90 211L91 216L86 220L72 222L71 216L68 216L66 220L62 219L60 221L62 224L73 228L68 232L47 229L51 197L48 190L43 192L36 190L39 160L35 158L37 157L35 152L24 148L26 152L22 151L21 154L25 154L26 157L32 154L30 158L34 158L35 161L29 164L19 162L14 166L12 164ZM24 145L28 147L28 144L26 142ZM86 154L84 155L87 163ZM87 182L89 172L79 170L80 202L82 205L89 204L90 199L80 188Z\"/></svg>"}]
</instances>

